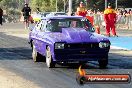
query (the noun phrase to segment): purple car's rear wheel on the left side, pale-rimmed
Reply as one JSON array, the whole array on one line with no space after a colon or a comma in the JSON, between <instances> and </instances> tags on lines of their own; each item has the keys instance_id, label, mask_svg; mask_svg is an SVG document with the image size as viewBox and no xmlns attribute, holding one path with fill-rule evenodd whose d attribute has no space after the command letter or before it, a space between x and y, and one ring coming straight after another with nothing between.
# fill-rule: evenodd
<instances>
[{"instance_id":1,"label":"purple car's rear wheel on the left side, pale-rimmed","mask_svg":"<svg viewBox=\"0 0 132 88\"><path fill-rule=\"evenodd\" d=\"M34 61L34 62L40 62L40 61L42 61L42 55L39 54L39 53L36 51L34 45L32 46L32 58L33 58L33 61Z\"/></svg>"}]
</instances>

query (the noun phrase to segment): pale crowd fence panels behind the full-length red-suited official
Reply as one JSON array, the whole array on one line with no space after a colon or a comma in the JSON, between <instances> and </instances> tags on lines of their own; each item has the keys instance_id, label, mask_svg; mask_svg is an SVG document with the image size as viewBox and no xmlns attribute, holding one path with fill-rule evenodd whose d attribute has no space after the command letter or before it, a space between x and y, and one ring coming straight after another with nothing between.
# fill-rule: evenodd
<instances>
[{"instance_id":1,"label":"pale crowd fence panels behind the full-length red-suited official","mask_svg":"<svg viewBox=\"0 0 132 88\"><path fill-rule=\"evenodd\" d=\"M105 26L103 14L94 14L93 15L93 24L94 26ZM117 15L116 20L117 29L132 29L132 14L126 15Z\"/></svg>"}]
</instances>

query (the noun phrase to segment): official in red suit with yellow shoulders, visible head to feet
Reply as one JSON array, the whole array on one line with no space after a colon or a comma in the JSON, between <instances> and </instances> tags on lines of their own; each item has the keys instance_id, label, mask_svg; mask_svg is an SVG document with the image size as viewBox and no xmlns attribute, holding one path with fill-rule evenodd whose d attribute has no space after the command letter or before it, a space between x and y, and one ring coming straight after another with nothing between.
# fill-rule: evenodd
<instances>
[{"instance_id":1,"label":"official in red suit with yellow shoulders, visible head to feet","mask_svg":"<svg viewBox=\"0 0 132 88\"><path fill-rule=\"evenodd\" d=\"M115 30L116 23L116 11L112 9L111 4L108 4L108 8L104 11L104 21L106 24L106 36L110 37L110 30L112 31L112 35L117 37Z\"/></svg>"}]
</instances>

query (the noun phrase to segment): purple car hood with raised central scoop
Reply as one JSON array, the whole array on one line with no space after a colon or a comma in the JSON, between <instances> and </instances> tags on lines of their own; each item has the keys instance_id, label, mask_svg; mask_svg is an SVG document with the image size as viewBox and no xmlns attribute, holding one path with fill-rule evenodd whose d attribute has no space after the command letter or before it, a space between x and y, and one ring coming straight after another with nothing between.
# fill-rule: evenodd
<instances>
[{"instance_id":1,"label":"purple car hood with raised central scoop","mask_svg":"<svg viewBox=\"0 0 132 88\"><path fill-rule=\"evenodd\" d=\"M106 37L88 32L83 28L62 28L62 33L49 33L48 37L53 42L67 43L108 41Z\"/></svg>"}]
</instances>

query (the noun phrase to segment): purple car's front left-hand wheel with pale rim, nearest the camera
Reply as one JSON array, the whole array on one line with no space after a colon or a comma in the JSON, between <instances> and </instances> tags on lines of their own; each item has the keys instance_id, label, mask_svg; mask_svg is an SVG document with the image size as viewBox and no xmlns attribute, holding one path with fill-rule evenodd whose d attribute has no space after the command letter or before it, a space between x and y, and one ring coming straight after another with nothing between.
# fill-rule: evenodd
<instances>
[{"instance_id":1,"label":"purple car's front left-hand wheel with pale rim, nearest the camera","mask_svg":"<svg viewBox=\"0 0 132 88\"><path fill-rule=\"evenodd\" d=\"M53 62L53 58L49 46L47 46L46 48L46 65L48 68L55 67L55 62Z\"/></svg>"}]
</instances>

